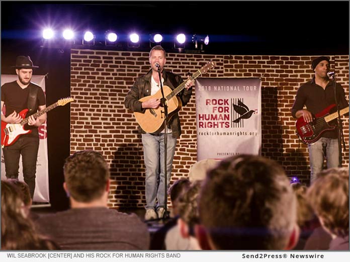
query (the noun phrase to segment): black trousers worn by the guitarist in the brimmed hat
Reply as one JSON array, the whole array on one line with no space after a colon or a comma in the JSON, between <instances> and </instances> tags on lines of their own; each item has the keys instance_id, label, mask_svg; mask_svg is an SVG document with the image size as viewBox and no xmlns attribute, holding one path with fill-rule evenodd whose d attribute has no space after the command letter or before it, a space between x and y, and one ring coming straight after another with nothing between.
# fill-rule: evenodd
<instances>
[{"instance_id":1,"label":"black trousers worn by the guitarist in the brimmed hat","mask_svg":"<svg viewBox=\"0 0 350 262\"><path fill-rule=\"evenodd\" d=\"M35 173L39 150L39 137L23 135L11 146L4 147L4 161L7 178L18 179L20 155L22 155L23 178L29 186L33 199L35 190Z\"/></svg>"}]
</instances>

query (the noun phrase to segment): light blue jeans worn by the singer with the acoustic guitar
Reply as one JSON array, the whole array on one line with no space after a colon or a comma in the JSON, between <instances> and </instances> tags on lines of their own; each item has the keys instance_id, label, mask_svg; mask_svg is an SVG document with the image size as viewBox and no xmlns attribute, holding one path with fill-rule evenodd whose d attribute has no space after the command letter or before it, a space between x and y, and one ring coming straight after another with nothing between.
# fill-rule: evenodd
<instances>
[{"instance_id":1,"label":"light blue jeans worn by the singer with the acoustic guitar","mask_svg":"<svg viewBox=\"0 0 350 262\"><path fill-rule=\"evenodd\" d=\"M143 158L146 166L146 209L164 206L164 134L142 134ZM166 188L170 183L172 160L175 154L176 138L167 134ZM159 173L160 164L160 173ZM159 182L158 182L159 179ZM156 205L156 198L158 203Z\"/></svg>"}]
</instances>

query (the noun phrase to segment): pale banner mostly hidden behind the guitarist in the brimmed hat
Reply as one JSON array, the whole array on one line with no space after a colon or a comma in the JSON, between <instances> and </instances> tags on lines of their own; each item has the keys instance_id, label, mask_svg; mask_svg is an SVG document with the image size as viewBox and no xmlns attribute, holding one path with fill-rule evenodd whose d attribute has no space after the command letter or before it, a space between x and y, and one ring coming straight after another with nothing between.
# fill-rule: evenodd
<instances>
[{"instance_id":1,"label":"pale banner mostly hidden behind the guitarist in the brimmed hat","mask_svg":"<svg viewBox=\"0 0 350 262\"><path fill-rule=\"evenodd\" d=\"M17 80L17 75L2 75L1 85ZM45 92L45 76L33 75L32 82L42 87ZM6 105L4 106L4 108ZM4 111L5 113L5 111ZM35 178L35 191L33 201L35 202L49 202L49 171L48 171L48 159L47 159L47 132L46 121L39 126L39 152L37 159L37 171ZM1 179L6 179L5 176L5 163L3 157L3 151L1 155ZM20 158L20 170L19 180L23 181L22 172L22 157Z\"/></svg>"}]
</instances>

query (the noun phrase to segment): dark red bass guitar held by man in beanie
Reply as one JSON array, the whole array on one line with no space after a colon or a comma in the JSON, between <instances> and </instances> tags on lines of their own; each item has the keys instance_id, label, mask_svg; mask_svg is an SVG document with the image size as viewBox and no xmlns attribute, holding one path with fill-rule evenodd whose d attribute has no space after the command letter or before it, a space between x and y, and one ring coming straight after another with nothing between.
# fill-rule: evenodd
<instances>
[{"instance_id":1,"label":"dark red bass guitar held by man in beanie","mask_svg":"<svg viewBox=\"0 0 350 262\"><path fill-rule=\"evenodd\" d=\"M331 120L338 117L338 112L329 114L329 111L335 106L332 104L315 114L315 118L312 122L305 122L304 117L299 117L295 125L297 127L298 135L305 144L311 144L316 142L321 134L326 130L333 130L335 125L329 124ZM349 107L341 109L340 115L346 114L349 111Z\"/></svg>"}]
</instances>

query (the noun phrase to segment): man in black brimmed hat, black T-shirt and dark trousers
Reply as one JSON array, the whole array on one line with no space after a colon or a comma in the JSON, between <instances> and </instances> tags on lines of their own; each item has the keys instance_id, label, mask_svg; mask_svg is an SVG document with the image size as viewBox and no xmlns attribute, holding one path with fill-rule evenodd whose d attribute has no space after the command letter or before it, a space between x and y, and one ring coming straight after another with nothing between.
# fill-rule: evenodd
<instances>
[{"instance_id":1,"label":"man in black brimmed hat, black T-shirt and dark trousers","mask_svg":"<svg viewBox=\"0 0 350 262\"><path fill-rule=\"evenodd\" d=\"M29 109L26 116L28 123L25 129L32 132L24 134L16 142L3 148L7 178L18 179L19 160L22 155L23 177L28 184L31 197L34 196L36 163L39 149L38 127L45 122L46 113L36 119L32 116L38 110L46 107L45 95L42 88L31 82L34 66L29 56L18 56L16 59L16 81L6 83L1 87L1 120L7 123L20 123L23 116L19 114L23 109ZM3 107L6 105L6 114ZM3 140L3 138L2 138Z\"/></svg>"}]
</instances>

